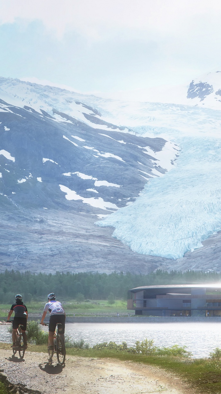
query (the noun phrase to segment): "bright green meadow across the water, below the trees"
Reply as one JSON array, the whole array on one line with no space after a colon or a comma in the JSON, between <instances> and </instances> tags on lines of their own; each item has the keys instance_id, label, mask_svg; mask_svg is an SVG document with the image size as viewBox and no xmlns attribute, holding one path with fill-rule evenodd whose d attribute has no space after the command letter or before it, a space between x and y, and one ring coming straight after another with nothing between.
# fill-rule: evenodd
<instances>
[{"instance_id":1,"label":"bright green meadow across the water, below the trees","mask_svg":"<svg viewBox=\"0 0 221 394\"><path fill-rule=\"evenodd\" d=\"M63 300L60 300L61 302ZM28 309L28 313L39 314L43 313L45 301L31 301L30 303L24 303ZM109 316L110 314L116 315L125 314L127 316L127 302L122 300L116 300L113 305L110 305L107 300L90 300L90 302L77 303L75 300L64 301L63 306L67 316ZM8 312L11 308L11 304L0 304L0 316L7 317ZM130 311L131 314L131 311Z\"/></svg>"}]
</instances>

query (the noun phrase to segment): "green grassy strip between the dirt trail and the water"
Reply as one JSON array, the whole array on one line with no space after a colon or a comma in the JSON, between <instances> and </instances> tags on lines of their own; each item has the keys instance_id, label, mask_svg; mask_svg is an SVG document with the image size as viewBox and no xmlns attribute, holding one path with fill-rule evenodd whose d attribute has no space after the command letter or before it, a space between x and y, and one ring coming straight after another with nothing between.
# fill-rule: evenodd
<instances>
[{"instance_id":1,"label":"green grassy strip between the dirt trail and the water","mask_svg":"<svg viewBox=\"0 0 221 394\"><path fill-rule=\"evenodd\" d=\"M9 344L0 343L0 349L10 349ZM28 351L47 353L46 345L29 345ZM164 368L168 372L174 372L190 388L197 389L203 394L221 393L221 361L219 359L184 359L170 356L145 356L131 354L117 349L83 349L67 348L67 355L96 358L112 358L120 361L142 362ZM0 394L5 394L4 392Z\"/></svg>"}]
</instances>

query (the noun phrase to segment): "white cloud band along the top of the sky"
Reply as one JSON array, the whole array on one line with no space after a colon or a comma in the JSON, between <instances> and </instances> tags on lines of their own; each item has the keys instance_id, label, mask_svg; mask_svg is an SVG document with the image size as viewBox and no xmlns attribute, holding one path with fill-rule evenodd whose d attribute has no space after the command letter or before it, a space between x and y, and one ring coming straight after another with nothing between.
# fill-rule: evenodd
<instances>
[{"instance_id":1,"label":"white cloud band along the top of the sky","mask_svg":"<svg viewBox=\"0 0 221 394\"><path fill-rule=\"evenodd\" d=\"M0 0L0 6L1 24L38 19L60 39L76 31L98 41L119 31L127 38L188 33L200 19L219 23L221 13L217 0Z\"/></svg>"}]
</instances>

